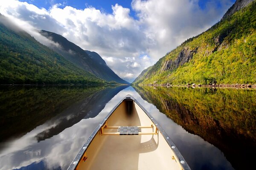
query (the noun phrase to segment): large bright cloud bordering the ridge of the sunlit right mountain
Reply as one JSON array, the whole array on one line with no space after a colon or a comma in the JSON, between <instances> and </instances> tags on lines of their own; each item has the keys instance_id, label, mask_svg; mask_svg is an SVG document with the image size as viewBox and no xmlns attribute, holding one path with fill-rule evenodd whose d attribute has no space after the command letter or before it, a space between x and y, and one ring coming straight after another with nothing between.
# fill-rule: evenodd
<instances>
[{"instance_id":1,"label":"large bright cloud bordering the ridge of the sunlit right mountain","mask_svg":"<svg viewBox=\"0 0 256 170\"><path fill-rule=\"evenodd\" d=\"M230 0L209 0L201 9L198 1L133 0L132 8L151 40L147 49L151 57L159 59L186 39L206 31L232 4Z\"/></svg>"}]
</instances>

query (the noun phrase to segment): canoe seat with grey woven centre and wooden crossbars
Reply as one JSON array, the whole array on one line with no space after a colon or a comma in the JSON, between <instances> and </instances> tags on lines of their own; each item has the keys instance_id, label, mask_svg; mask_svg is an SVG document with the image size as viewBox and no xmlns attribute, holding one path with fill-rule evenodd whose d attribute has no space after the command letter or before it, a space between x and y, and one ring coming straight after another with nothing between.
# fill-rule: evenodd
<instances>
[{"instance_id":1,"label":"canoe seat with grey woven centre and wooden crossbars","mask_svg":"<svg viewBox=\"0 0 256 170\"><path fill-rule=\"evenodd\" d=\"M142 128L152 128L152 132L141 132ZM117 129L117 132L104 132L104 129ZM101 135L157 135L158 130L154 132L154 126L107 126L101 127Z\"/></svg>"}]
</instances>

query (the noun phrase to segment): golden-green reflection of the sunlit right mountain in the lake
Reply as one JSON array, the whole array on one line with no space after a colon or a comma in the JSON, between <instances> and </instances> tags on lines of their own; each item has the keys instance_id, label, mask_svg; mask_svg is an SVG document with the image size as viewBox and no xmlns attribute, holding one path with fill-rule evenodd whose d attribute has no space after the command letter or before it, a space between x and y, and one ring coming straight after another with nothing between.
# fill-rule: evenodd
<instances>
[{"instance_id":1,"label":"golden-green reflection of the sunlit right mountain in the lake","mask_svg":"<svg viewBox=\"0 0 256 170\"><path fill-rule=\"evenodd\" d=\"M134 87L143 99L218 147L235 169L250 169L256 152L255 91ZM244 162L247 162L244 164Z\"/></svg>"}]
</instances>

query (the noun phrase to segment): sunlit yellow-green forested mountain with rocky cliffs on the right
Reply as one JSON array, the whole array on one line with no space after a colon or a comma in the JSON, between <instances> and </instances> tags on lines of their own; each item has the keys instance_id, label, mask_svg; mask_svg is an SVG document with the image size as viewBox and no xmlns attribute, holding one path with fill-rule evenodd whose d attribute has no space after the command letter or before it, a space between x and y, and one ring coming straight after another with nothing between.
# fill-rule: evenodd
<instances>
[{"instance_id":1,"label":"sunlit yellow-green forested mountain with rocky cliffs on the right","mask_svg":"<svg viewBox=\"0 0 256 170\"><path fill-rule=\"evenodd\" d=\"M133 83L256 83L256 3L250 1L237 0L219 23L183 42Z\"/></svg>"}]
</instances>

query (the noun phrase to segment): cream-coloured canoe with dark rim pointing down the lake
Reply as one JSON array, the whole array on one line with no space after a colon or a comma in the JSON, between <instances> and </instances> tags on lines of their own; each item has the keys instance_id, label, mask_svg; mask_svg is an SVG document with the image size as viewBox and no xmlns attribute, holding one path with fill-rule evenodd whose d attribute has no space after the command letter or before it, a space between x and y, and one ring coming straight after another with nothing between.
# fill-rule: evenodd
<instances>
[{"instance_id":1,"label":"cream-coloured canoe with dark rim pointing down the lake","mask_svg":"<svg viewBox=\"0 0 256 170\"><path fill-rule=\"evenodd\" d=\"M190 170L157 121L125 96L96 127L68 170Z\"/></svg>"}]
</instances>

